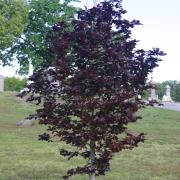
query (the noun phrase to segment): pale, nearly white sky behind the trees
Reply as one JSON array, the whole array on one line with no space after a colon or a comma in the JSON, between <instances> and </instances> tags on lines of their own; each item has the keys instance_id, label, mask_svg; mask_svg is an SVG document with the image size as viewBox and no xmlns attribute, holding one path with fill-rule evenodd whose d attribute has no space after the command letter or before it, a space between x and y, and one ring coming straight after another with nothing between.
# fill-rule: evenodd
<instances>
[{"instance_id":1,"label":"pale, nearly white sky behind the trees","mask_svg":"<svg viewBox=\"0 0 180 180\"><path fill-rule=\"evenodd\" d=\"M93 0L82 0L79 5L92 4ZM143 24L132 33L140 40L138 48L159 47L167 53L153 72L154 81L180 81L180 0L124 0L122 5L128 11L127 19L138 19ZM14 76L17 68L16 63L14 67L0 67L0 75Z\"/></svg>"}]
</instances>

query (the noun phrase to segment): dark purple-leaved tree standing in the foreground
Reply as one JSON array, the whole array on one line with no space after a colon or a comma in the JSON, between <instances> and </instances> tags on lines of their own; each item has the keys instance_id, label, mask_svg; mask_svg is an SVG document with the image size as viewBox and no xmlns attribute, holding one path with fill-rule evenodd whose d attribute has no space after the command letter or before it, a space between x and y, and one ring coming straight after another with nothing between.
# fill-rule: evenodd
<instances>
[{"instance_id":1,"label":"dark purple-leaved tree standing in the foreground","mask_svg":"<svg viewBox=\"0 0 180 180\"><path fill-rule=\"evenodd\" d=\"M40 139L58 137L77 148L61 149L62 156L87 160L68 170L64 179L105 175L114 153L144 141L143 133L134 135L127 125L141 118L136 112L145 103L138 95L149 88L147 76L164 53L136 49L131 29L140 22L124 19L125 13L121 0L108 0L79 11L69 25L55 24L47 35L54 61L34 72L21 94L42 104L35 117L51 133Z\"/></svg>"}]
</instances>

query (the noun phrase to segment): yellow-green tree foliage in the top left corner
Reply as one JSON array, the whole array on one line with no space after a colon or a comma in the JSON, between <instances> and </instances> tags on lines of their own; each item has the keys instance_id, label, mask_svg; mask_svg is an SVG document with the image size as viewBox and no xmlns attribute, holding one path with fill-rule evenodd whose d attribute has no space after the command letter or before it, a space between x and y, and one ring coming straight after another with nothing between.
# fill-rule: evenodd
<instances>
[{"instance_id":1,"label":"yellow-green tree foliage in the top left corner","mask_svg":"<svg viewBox=\"0 0 180 180\"><path fill-rule=\"evenodd\" d=\"M23 0L0 1L0 57L20 37L26 22L27 6Z\"/></svg>"}]
</instances>

